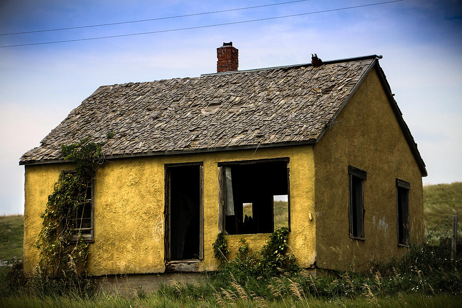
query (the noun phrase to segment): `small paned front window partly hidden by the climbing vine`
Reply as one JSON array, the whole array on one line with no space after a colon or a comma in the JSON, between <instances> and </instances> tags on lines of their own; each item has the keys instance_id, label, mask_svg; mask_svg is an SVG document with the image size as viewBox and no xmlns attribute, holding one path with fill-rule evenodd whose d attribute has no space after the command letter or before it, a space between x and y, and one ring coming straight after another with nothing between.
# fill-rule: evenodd
<instances>
[{"instance_id":1,"label":"small paned front window partly hidden by the climbing vine","mask_svg":"<svg viewBox=\"0 0 462 308\"><path fill-rule=\"evenodd\" d=\"M74 176L74 170L63 171L63 179ZM87 185L79 187L77 194L81 203L70 217L73 226L73 239L77 240L80 233L85 241L93 241L93 180Z\"/></svg>"}]
</instances>

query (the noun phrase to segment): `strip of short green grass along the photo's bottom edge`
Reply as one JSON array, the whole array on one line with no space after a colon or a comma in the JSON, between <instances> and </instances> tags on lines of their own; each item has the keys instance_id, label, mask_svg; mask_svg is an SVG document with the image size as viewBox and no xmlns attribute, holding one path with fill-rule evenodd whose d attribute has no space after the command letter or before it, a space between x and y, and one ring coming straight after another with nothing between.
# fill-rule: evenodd
<instances>
[{"instance_id":1,"label":"strip of short green grass along the photo's bottom edge","mask_svg":"<svg viewBox=\"0 0 462 308\"><path fill-rule=\"evenodd\" d=\"M389 297L368 297L358 296L356 298L338 297L338 298L316 298L312 296L305 297L282 297L274 300L263 300L259 298L247 299L237 296L234 300L224 299L217 302L214 299L188 298L188 297L170 297L162 293L140 294L132 298L121 295L98 294L92 298L69 296L11 296L0 299L2 307L72 307L72 308L147 308L147 307L168 307L168 308L248 308L248 307L295 307L295 308L365 308L365 307L382 307L382 308L404 308L404 307L459 307L462 301L461 295L437 294L425 296L418 293L406 293Z\"/></svg>"}]
</instances>

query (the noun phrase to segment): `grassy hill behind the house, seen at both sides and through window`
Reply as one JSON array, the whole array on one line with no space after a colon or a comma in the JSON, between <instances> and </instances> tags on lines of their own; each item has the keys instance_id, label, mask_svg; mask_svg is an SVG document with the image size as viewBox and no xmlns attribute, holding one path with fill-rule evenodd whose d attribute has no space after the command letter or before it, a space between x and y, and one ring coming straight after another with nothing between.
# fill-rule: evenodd
<instances>
[{"instance_id":1,"label":"grassy hill behind the house, seen at both sides and through window","mask_svg":"<svg viewBox=\"0 0 462 308\"><path fill-rule=\"evenodd\" d=\"M275 205L275 225L287 225L287 203ZM453 213L459 216L458 237L462 238L462 182L424 186L424 213L427 234L433 240L450 236ZM22 215L0 216L0 260L23 257L23 226Z\"/></svg>"}]
</instances>

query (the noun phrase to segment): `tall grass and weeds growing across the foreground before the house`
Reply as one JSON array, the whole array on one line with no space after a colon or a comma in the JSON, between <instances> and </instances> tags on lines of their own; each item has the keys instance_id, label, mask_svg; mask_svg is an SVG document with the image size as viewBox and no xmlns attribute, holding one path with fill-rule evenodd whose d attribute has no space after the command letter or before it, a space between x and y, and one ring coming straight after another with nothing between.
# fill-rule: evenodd
<instances>
[{"instance_id":1,"label":"tall grass and weeds growing across the foreground before the house","mask_svg":"<svg viewBox=\"0 0 462 308\"><path fill-rule=\"evenodd\" d=\"M449 260L448 254L447 247L415 245L408 256L385 265L373 264L368 273L325 272L317 277L299 270L263 278L244 273L242 264L235 264L198 285L174 281L149 294L139 289L131 297L97 293L85 287L91 284L88 280L43 276L21 280L18 263L8 277L2 277L2 285L8 284L10 290L0 294L0 306L457 307L462 299L461 266L459 260ZM239 279L233 273L234 266L241 271Z\"/></svg>"}]
</instances>

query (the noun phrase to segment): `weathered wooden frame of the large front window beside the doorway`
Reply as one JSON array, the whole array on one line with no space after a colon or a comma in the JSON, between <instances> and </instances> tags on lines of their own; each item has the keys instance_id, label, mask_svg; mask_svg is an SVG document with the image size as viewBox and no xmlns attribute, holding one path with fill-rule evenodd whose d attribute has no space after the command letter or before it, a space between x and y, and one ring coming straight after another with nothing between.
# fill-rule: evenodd
<instances>
[{"instance_id":1,"label":"weathered wooden frame of the large front window beside the doorway","mask_svg":"<svg viewBox=\"0 0 462 308\"><path fill-rule=\"evenodd\" d=\"M291 184L290 184L290 158L269 158L269 159L256 159L256 160L241 160L241 161L226 161L218 162L218 230L219 232L226 232L225 226L225 212L226 212L226 176L225 168L232 165L249 165L259 163L271 163L271 162L285 162L287 166L287 228L291 232ZM274 201L273 201L274 202ZM274 206L274 205L273 205ZM274 213L273 213L273 232L274 232ZM239 235L252 235L239 234ZM258 233L255 233L258 234Z\"/></svg>"}]
</instances>

